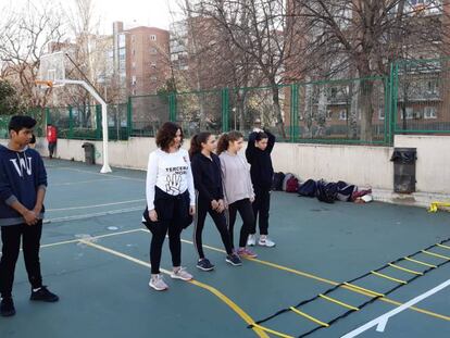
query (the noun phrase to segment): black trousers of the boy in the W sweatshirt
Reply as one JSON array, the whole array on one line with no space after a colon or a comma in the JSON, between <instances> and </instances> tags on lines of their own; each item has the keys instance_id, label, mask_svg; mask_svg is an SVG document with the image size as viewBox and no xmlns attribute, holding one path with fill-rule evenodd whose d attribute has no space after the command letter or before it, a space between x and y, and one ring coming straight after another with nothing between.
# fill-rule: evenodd
<instances>
[{"instance_id":1,"label":"black trousers of the boy in the W sweatshirt","mask_svg":"<svg viewBox=\"0 0 450 338\"><path fill-rule=\"evenodd\" d=\"M1 227L3 247L0 260L0 292L2 297L10 297L12 293L15 263L21 250L21 237L28 280L34 289L42 286L39 263L41 234L42 221L36 225L20 224Z\"/></svg>"}]
</instances>

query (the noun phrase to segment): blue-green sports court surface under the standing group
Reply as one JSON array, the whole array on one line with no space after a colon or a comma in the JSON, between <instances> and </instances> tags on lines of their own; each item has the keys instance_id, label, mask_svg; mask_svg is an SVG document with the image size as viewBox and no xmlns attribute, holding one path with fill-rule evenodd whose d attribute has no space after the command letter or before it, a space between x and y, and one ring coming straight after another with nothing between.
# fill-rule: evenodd
<instances>
[{"instance_id":1,"label":"blue-green sports court surface under the standing group","mask_svg":"<svg viewBox=\"0 0 450 338\"><path fill-rule=\"evenodd\" d=\"M0 337L341 337L448 281L450 242L371 274L450 237L450 214L384 203L324 204L273 192L271 237L275 248L254 250L257 260L234 267L211 220L203 234L213 272L196 268L192 226L182 237L183 265L191 283L165 277L170 289L149 288L150 235L141 225L146 173L47 161L47 221L41 240L45 284L61 297L32 303L22 258L14 284L16 315L0 317ZM435 255L429 254L429 252ZM437 255L436 255L437 254ZM403 285L415 273L430 271ZM161 266L171 270L165 243ZM376 273L377 271L375 271ZM249 328L283 309L315 298ZM401 285L387 296L390 289ZM361 289L361 288L364 288ZM338 301L338 302L334 302ZM334 318L360 308L347 316ZM347 306L347 308L346 308ZM297 311L296 311L297 310ZM304 315L302 315L304 314ZM309 317L307 317L308 315ZM325 327L327 323L329 327ZM322 323L322 324L321 324ZM359 337L450 337L450 288L391 316Z\"/></svg>"}]
</instances>

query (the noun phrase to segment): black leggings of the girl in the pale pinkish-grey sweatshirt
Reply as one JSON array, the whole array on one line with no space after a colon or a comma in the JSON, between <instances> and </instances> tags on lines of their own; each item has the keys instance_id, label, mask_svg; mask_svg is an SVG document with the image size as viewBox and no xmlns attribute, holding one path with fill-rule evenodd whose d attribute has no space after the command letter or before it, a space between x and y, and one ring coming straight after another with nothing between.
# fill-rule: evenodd
<instances>
[{"instance_id":1,"label":"black leggings of the girl in the pale pinkish-grey sweatshirt","mask_svg":"<svg viewBox=\"0 0 450 338\"><path fill-rule=\"evenodd\" d=\"M247 246L247 237L249 237L254 224L253 209L250 200L243 199L228 205L228 231L233 248L235 247L233 229L235 227L236 214L238 211L243 222L242 227L240 228L239 248L243 248Z\"/></svg>"}]
</instances>

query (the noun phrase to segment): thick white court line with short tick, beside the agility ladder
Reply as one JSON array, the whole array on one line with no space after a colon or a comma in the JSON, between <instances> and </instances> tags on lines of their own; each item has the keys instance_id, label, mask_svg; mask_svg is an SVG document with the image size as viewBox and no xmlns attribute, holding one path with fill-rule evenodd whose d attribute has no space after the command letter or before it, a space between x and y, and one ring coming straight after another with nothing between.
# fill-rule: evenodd
<instances>
[{"instance_id":1,"label":"thick white court line with short tick, beside the agility ladder","mask_svg":"<svg viewBox=\"0 0 450 338\"><path fill-rule=\"evenodd\" d=\"M409 302L404 303L403 305L398 306L398 308L380 315L379 317L368 322L367 324L364 324L363 326L360 326L359 328L352 330L351 333L348 333L347 335L341 336L341 338L357 337L357 336L361 335L362 333L371 329L374 326L376 326L376 330L378 333L383 333L385 330L387 322L389 321L390 317L392 317L396 314L399 314L400 312L407 310L408 308L423 301L424 299L433 296L434 293L447 288L449 285L450 285L450 279L448 279L447 281L443 281L442 284L439 284L437 287L426 291L425 293L422 293L422 295L417 296L416 298L410 300Z\"/></svg>"}]
</instances>

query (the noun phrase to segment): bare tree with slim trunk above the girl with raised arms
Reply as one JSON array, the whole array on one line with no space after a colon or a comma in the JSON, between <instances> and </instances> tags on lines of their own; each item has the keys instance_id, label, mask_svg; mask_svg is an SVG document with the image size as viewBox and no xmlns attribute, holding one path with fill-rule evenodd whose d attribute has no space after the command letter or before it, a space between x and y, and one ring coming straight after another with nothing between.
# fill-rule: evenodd
<instances>
[{"instance_id":1,"label":"bare tree with slim trunk above the girl with raised arms","mask_svg":"<svg viewBox=\"0 0 450 338\"><path fill-rule=\"evenodd\" d=\"M222 26L229 41L258 66L271 86L274 116L284 135L278 85L287 77L285 66L295 41L286 1L200 0L195 11Z\"/></svg>"}]
</instances>

